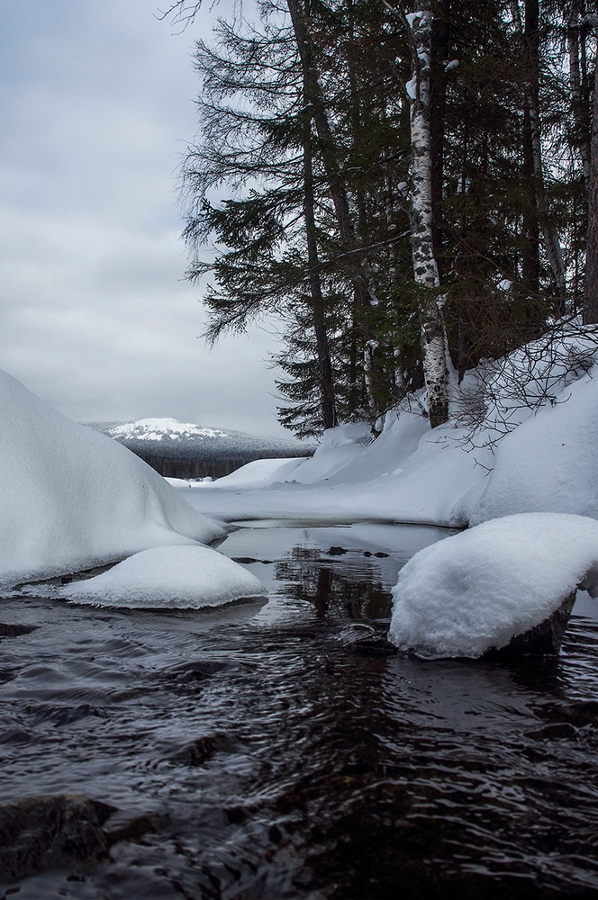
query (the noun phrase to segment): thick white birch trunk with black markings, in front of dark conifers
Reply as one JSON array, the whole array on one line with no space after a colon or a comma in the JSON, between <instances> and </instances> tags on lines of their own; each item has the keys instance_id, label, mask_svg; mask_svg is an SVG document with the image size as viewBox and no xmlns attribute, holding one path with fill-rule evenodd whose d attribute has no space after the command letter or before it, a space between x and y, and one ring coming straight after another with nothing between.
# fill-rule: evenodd
<instances>
[{"instance_id":1,"label":"thick white birch trunk with black markings, in front of dark conifers","mask_svg":"<svg viewBox=\"0 0 598 900\"><path fill-rule=\"evenodd\" d=\"M439 271L432 238L430 146L430 0L409 17L414 45L413 77L407 85L411 102L412 193L411 237L413 275L421 285L421 352L428 392L430 427L449 419L447 342L439 310Z\"/></svg>"}]
</instances>

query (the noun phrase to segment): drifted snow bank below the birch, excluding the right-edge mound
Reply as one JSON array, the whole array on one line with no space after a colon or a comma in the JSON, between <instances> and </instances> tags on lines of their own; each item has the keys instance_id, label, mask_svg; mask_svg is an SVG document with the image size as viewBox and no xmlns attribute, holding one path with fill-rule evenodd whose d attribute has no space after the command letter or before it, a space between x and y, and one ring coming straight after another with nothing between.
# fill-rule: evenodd
<instances>
[{"instance_id":1,"label":"drifted snow bank below the birch, excluding the right-edge mound","mask_svg":"<svg viewBox=\"0 0 598 900\"><path fill-rule=\"evenodd\" d=\"M488 480L476 458L448 439L453 430L430 431L427 419L406 410L389 413L375 441L366 425L332 428L311 458L249 464L185 496L197 509L232 520L374 519L460 527ZM486 457L492 464L489 451Z\"/></svg>"}]
</instances>

